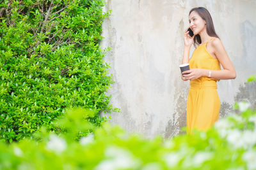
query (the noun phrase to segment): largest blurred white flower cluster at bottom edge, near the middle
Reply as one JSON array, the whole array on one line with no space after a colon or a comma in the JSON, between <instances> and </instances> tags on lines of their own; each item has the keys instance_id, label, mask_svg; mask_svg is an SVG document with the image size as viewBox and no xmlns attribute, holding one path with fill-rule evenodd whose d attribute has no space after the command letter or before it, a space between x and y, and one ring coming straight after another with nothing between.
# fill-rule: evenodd
<instances>
[{"instance_id":1,"label":"largest blurred white flower cluster at bottom edge, near the middle","mask_svg":"<svg viewBox=\"0 0 256 170\"><path fill-rule=\"evenodd\" d=\"M107 160L102 160L95 170L115 170L115 169L136 169L140 166L140 161L123 148L110 146L105 151Z\"/></svg>"}]
</instances>

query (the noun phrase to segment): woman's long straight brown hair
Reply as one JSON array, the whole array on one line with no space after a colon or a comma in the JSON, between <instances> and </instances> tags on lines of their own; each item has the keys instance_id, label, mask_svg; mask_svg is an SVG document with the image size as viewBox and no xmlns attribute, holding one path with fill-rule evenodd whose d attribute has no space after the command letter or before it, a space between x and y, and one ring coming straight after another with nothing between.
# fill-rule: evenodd
<instances>
[{"instance_id":1,"label":"woman's long straight brown hair","mask_svg":"<svg viewBox=\"0 0 256 170\"><path fill-rule=\"evenodd\" d=\"M196 8L192 8L189 11L189 15L192 11L196 11L196 13L198 13L198 15L201 18L203 18L203 20L205 20L207 34L209 36L219 38L219 36L215 32L214 25L213 25L213 22L212 22L212 17L211 17L211 14L209 13L209 11L204 7L196 7ZM200 35L197 34L194 38L194 46L200 45L200 43L202 43L202 40L200 38Z\"/></svg>"}]
</instances>

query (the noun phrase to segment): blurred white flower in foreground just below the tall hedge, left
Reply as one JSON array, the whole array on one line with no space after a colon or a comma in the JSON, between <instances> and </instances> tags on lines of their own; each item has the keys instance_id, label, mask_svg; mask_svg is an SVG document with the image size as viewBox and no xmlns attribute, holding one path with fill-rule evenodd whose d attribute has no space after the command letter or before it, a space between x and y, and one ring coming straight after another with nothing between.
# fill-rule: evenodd
<instances>
[{"instance_id":1,"label":"blurred white flower in foreground just below the tall hedge, left","mask_svg":"<svg viewBox=\"0 0 256 170\"><path fill-rule=\"evenodd\" d=\"M50 140L47 143L46 148L56 153L61 153L67 148L67 143L64 139L58 138L56 134L51 134Z\"/></svg>"}]
</instances>

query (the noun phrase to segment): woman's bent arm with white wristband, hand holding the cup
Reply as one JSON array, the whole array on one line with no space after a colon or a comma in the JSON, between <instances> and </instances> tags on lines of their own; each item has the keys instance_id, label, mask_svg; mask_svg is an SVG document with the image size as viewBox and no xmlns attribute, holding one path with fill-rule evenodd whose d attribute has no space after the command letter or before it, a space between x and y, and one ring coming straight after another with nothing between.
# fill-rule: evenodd
<instances>
[{"instance_id":1,"label":"woman's bent arm with white wristband, hand holding the cup","mask_svg":"<svg viewBox=\"0 0 256 170\"><path fill-rule=\"evenodd\" d=\"M184 71L184 73L189 73L185 75L186 80L195 80L201 76L208 76L209 71L211 71L211 78L218 80L227 80L236 78L236 70L228 58L227 52L222 45L220 39L216 38L212 41L212 47L214 48L214 54L220 61L223 69L221 70L209 70L209 69L190 69L189 71Z\"/></svg>"}]
</instances>

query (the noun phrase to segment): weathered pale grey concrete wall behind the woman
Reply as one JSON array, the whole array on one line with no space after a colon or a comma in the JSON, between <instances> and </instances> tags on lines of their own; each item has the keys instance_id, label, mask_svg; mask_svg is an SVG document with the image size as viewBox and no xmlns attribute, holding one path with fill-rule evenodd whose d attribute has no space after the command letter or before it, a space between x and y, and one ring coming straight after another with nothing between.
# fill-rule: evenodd
<instances>
[{"instance_id":1,"label":"weathered pale grey concrete wall behind the woman","mask_svg":"<svg viewBox=\"0 0 256 170\"><path fill-rule=\"evenodd\" d=\"M113 48L105 57L115 81L109 93L122 110L111 114L111 124L147 138L171 138L186 125L189 81L180 79L179 64L188 13L196 6L210 11L237 71L236 80L218 83L220 116L230 113L235 101L255 106L256 84L244 85L256 73L255 0L108 0L105 10L112 15L103 24L102 48Z\"/></svg>"}]
</instances>

